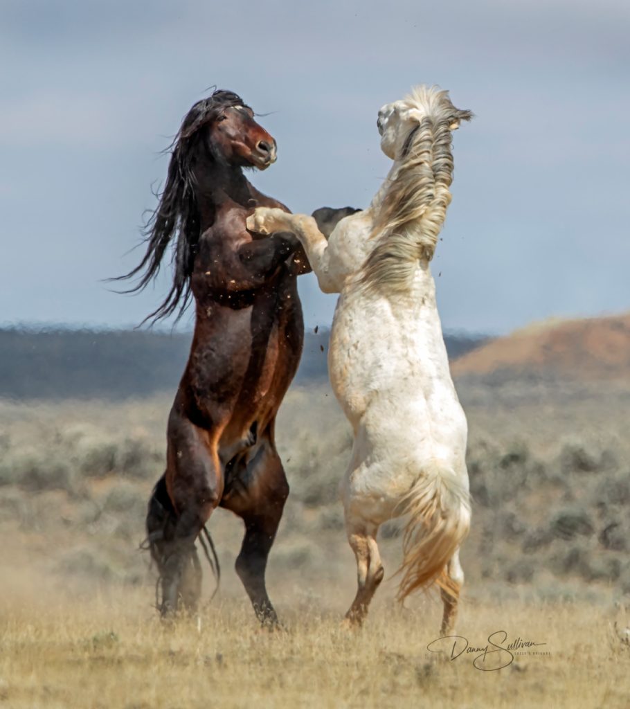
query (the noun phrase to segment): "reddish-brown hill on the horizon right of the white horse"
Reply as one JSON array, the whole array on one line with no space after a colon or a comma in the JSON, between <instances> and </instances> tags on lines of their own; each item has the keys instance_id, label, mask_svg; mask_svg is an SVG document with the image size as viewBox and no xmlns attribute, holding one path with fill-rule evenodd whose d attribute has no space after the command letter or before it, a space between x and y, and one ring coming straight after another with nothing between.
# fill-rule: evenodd
<instances>
[{"instance_id":1,"label":"reddish-brown hill on the horizon right of the white horse","mask_svg":"<svg viewBox=\"0 0 630 709\"><path fill-rule=\"evenodd\" d=\"M464 354L451 369L454 376L630 379L630 313L533 323Z\"/></svg>"}]
</instances>

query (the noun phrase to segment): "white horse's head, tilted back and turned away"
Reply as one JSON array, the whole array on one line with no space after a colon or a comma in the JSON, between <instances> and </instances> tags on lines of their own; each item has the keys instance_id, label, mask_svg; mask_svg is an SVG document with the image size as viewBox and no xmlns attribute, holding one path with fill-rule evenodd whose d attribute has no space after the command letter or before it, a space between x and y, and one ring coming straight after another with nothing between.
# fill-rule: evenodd
<instances>
[{"instance_id":1,"label":"white horse's head, tilted back and turned away","mask_svg":"<svg viewBox=\"0 0 630 709\"><path fill-rule=\"evenodd\" d=\"M437 86L415 86L405 99L386 104L378 111L381 150L392 160L400 160L423 118L448 121L449 128L455 130L471 116L471 111L460 111L451 104L448 91Z\"/></svg>"}]
</instances>

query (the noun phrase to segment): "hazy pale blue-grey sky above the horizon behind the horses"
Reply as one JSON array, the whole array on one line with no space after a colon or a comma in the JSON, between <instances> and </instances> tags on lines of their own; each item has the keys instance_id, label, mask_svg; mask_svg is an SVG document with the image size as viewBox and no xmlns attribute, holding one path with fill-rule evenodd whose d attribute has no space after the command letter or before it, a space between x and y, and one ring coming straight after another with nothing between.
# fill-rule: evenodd
<instances>
[{"instance_id":1,"label":"hazy pale blue-grey sky above the horizon behind the horses","mask_svg":"<svg viewBox=\"0 0 630 709\"><path fill-rule=\"evenodd\" d=\"M134 325L159 303L165 281L101 279L140 258L159 151L212 84L270 113L279 160L252 182L305 212L366 206L378 108L449 89L476 118L433 262L444 328L627 310L629 37L627 0L2 0L0 322ZM335 297L300 293L330 323Z\"/></svg>"}]
</instances>

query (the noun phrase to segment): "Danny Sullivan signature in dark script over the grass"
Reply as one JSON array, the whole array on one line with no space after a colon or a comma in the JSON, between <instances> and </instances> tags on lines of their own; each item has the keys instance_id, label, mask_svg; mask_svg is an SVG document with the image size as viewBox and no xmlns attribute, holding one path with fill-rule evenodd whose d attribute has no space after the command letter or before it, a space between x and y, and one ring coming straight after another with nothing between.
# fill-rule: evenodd
<instances>
[{"instance_id":1,"label":"Danny Sullivan signature in dark script over the grass","mask_svg":"<svg viewBox=\"0 0 630 709\"><path fill-rule=\"evenodd\" d=\"M507 642L507 632L496 630L488 635L488 642L479 647L473 647L462 635L445 635L429 642L430 652L445 654L450 661L458 657L471 657L473 666L484 672L492 672L512 664L519 655L551 655L549 650L536 649L546 645L546 642L535 642L517 637Z\"/></svg>"}]
</instances>

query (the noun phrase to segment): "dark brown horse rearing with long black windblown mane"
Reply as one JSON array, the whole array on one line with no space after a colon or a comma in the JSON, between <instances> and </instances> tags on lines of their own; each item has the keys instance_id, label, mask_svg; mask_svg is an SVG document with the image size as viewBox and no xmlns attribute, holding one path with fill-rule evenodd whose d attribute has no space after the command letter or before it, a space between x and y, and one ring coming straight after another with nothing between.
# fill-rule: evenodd
<instances>
[{"instance_id":1,"label":"dark brown horse rearing with long black windblown mane","mask_svg":"<svg viewBox=\"0 0 630 709\"><path fill-rule=\"evenodd\" d=\"M168 422L167 469L147 514L148 543L162 584L162 615L195 608L201 565L195 541L222 506L245 524L236 570L257 617L277 623L265 587L288 484L274 423L303 344L298 274L310 267L291 234L259 238L245 219L254 206L286 210L245 179L266 169L276 142L231 91L198 101L174 140L168 177L147 230L144 288L174 244L174 281L149 318L179 313L194 298L189 360Z\"/></svg>"}]
</instances>

